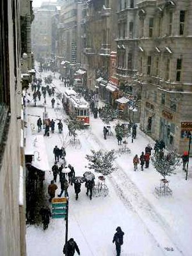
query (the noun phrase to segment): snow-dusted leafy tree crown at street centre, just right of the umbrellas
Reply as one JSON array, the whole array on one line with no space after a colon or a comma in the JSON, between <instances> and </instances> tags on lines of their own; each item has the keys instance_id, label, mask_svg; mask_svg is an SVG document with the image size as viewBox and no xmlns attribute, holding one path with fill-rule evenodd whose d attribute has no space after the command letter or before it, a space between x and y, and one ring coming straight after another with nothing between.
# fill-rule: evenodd
<instances>
[{"instance_id":1,"label":"snow-dusted leafy tree crown at street centre, just right of the umbrellas","mask_svg":"<svg viewBox=\"0 0 192 256\"><path fill-rule=\"evenodd\" d=\"M91 152L92 155L86 155L86 159L89 161L89 169L94 169L95 172L102 175L108 175L116 170L113 166L113 161L116 159L115 150L108 152L91 150Z\"/></svg>"}]
</instances>

